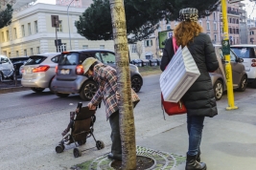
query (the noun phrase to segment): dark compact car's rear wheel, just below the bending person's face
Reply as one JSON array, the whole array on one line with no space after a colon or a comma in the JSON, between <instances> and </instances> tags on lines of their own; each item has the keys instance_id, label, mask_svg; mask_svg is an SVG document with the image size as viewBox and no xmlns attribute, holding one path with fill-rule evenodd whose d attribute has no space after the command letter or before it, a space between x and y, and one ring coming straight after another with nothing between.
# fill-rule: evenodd
<instances>
[{"instance_id":1,"label":"dark compact car's rear wheel, just below the bending person's face","mask_svg":"<svg viewBox=\"0 0 256 170\"><path fill-rule=\"evenodd\" d=\"M87 80L81 86L80 97L83 100L91 100L97 91L97 83L93 80Z\"/></svg>"}]
</instances>

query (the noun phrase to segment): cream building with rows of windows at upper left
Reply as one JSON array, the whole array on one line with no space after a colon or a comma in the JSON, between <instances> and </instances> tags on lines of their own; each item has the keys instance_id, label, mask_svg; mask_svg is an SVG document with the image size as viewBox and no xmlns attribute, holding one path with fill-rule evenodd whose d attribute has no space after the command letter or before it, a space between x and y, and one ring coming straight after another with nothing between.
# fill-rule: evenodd
<instances>
[{"instance_id":1,"label":"cream building with rows of windows at upper left","mask_svg":"<svg viewBox=\"0 0 256 170\"><path fill-rule=\"evenodd\" d=\"M0 30L0 54L14 57L37 53L63 52L71 49L107 49L114 51L113 40L91 41L77 33L74 23L79 20L83 11L84 8L70 7L70 24L68 24L66 6L35 4L22 11L14 12L12 24ZM58 28L52 26L52 15L58 15ZM55 45L56 39L61 40L61 45L58 47ZM130 45L129 49L130 58L138 58L135 51L136 46Z\"/></svg>"}]
</instances>

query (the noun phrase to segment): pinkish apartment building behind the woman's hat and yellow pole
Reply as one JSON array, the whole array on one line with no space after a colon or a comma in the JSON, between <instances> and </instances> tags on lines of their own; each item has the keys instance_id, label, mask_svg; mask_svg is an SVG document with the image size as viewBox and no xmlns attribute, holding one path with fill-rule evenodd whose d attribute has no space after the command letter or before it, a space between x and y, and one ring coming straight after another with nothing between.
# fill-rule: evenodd
<instances>
[{"instance_id":1,"label":"pinkish apartment building behind the woman's hat and yellow pole","mask_svg":"<svg viewBox=\"0 0 256 170\"><path fill-rule=\"evenodd\" d=\"M240 44L247 41L247 27L246 27L246 11L243 10L243 3L227 4L227 20L228 20L228 33L230 44ZM144 40L145 44L145 57L152 58L161 57L162 49L159 48L158 32L175 30L178 21L167 22L166 20L159 21L159 28L156 30L149 39ZM222 26L222 12L221 6L217 11L212 12L211 15L198 19L198 24L203 28L203 32L209 34L213 44L221 44L223 39L223 26ZM240 28L242 26L242 28ZM244 39L241 39L243 36Z\"/></svg>"}]
</instances>

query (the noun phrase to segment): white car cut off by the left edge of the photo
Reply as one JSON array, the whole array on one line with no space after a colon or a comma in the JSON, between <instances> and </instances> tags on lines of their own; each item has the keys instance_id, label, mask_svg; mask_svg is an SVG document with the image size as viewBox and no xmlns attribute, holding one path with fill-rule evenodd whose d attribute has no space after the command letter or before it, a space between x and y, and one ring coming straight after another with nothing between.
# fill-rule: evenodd
<instances>
[{"instance_id":1,"label":"white car cut off by the left edge of the photo","mask_svg":"<svg viewBox=\"0 0 256 170\"><path fill-rule=\"evenodd\" d=\"M14 68L12 61L6 55L0 55L0 82L6 78L13 79Z\"/></svg>"}]
</instances>

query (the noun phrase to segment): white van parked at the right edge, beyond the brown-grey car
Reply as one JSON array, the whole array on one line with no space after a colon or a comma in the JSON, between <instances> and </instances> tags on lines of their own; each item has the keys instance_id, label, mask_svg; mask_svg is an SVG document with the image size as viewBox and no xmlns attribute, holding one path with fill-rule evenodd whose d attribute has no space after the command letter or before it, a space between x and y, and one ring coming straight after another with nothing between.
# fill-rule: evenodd
<instances>
[{"instance_id":1,"label":"white van parked at the right edge, beyond the brown-grey car","mask_svg":"<svg viewBox=\"0 0 256 170\"><path fill-rule=\"evenodd\" d=\"M238 57L244 59L243 64L248 76L248 84L256 87L256 45L239 44L232 45L230 48Z\"/></svg>"}]
</instances>

